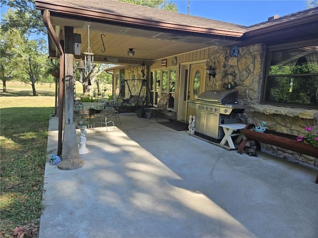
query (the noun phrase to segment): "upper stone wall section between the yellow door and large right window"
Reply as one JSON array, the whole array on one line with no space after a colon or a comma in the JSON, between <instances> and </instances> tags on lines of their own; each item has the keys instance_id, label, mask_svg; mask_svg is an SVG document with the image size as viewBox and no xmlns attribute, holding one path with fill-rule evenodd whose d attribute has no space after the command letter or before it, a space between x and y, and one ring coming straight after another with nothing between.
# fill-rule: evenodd
<instances>
[{"instance_id":1,"label":"upper stone wall section between the yellow door and large right window","mask_svg":"<svg viewBox=\"0 0 318 238\"><path fill-rule=\"evenodd\" d=\"M208 89L221 90L222 85L235 81L241 105L259 102L264 49L262 45L239 48L238 57L230 57L230 48L215 47L210 53L210 63L216 68L216 77L208 81ZM226 65L226 68L223 67ZM234 75L231 74L234 72Z\"/></svg>"}]
</instances>

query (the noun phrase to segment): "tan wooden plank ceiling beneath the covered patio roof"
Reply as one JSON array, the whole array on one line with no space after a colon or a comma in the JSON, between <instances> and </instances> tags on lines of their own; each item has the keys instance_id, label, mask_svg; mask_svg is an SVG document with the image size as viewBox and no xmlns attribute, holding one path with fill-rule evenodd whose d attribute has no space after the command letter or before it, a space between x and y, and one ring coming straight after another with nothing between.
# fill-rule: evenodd
<instances>
[{"instance_id":1,"label":"tan wooden plank ceiling beneath the covered patio roof","mask_svg":"<svg viewBox=\"0 0 318 238\"><path fill-rule=\"evenodd\" d=\"M121 60L144 60L152 61L170 56L196 51L211 46L231 45L235 39L228 37L198 36L198 34L185 34L182 32L164 32L156 29L138 29L128 26L87 22L76 19L68 19L68 25L74 27L74 33L81 38L81 58L88 48L88 25L89 44L95 59L106 61L107 59ZM65 25L65 18L51 17L55 26ZM62 28L58 28L63 34ZM61 35L59 36L61 37ZM62 36L63 38L63 36ZM127 51L132 48L134 56L128 56Z\"/></svg>"}]
</instances>

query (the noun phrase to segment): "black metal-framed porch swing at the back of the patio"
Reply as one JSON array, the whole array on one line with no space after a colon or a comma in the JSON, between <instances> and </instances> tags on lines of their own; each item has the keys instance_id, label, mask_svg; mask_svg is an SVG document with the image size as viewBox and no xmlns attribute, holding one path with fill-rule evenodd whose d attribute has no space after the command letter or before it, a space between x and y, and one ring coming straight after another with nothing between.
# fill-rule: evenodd
<instances>
[{"instance_id":1,"label":"black metal-framed porch swing at the back of the patio","mask_svg":"<svg viewBox=\"0 0 318 238\"><path fill-rule=\"evenodd\" d=\"M132 94L131 89L130 89L129 84L128 84L128 81L142 81L138 95ZM130 97L126 98L126 99L124 98L122 102L119 102L119 100L118 100L118 102L116 103L116 108L117 108L119 113L138 113L141 110L143 111L143 109L145 107L152 107L153 106L153 104L152 104L153 97L152 97L152 94L150 92L149 84L148 84L146 79L125 79L125 80L123 80L121 85L120 85L120 90L119 90L119 94L118 94L119 97L126 90L125 84L127 85L127 88L129 90ZM143 87L146 87L146 95L141 95ZM147 97L147 90L149 93L148 94L149 97ZM150 99L149 102L147 101L147 98Z\"/></svg>"}]
</instances>

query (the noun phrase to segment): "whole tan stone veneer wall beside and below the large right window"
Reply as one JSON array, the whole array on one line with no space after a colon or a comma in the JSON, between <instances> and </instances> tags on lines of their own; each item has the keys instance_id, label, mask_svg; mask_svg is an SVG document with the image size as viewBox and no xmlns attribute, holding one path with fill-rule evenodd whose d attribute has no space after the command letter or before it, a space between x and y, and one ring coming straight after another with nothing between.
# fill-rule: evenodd
<instances>
[{"instance_id":1,"label":"whole tan stone veneer wall beside and below the large right window","mask_svg":"<svg viewBox=\"0 0 318 238\"><path fill-rule=\"evenodd\" d=\"M223 84L235 81L237 83L235 89L239 91L239 104L251 107L240 115L240 122L259 125L260 122L266 121L268 129L293 135L304 135L306 126L312 126L318 130L318 110L259 104L265 59L263 45L239 47L238 57L230 57L230 48L226 47L215 47L210 52L210 64L216 68L217 74L215 78L211 77L211 80L207 82L207 89L224 89ZM224 64L226 68L223 67ZM318 158L301 155L276 146L266 144L261 144L261 146L262 149L283 157L318 167Z\"/></svg>"}]
</instances>

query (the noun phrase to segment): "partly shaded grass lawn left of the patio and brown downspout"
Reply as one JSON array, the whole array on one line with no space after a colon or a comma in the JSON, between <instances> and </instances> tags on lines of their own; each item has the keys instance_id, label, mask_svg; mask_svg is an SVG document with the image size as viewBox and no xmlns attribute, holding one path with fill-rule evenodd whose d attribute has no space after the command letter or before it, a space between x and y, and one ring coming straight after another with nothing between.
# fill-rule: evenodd
<instances>
[{"instance_id":1,"label":"partly shaded grass lawn left of the patio and brown downspout","mask_svg":"<svg viewBox=\"0 0 318 238\"><path fill-rule=\"evenodd\" d=\"M4 238L18 237L14 232L38 237L55 86L36 89L39 96L32 97L31 86L8 82L8 92L0 97L0 237Z\"/></svg>"}]
</instances>

